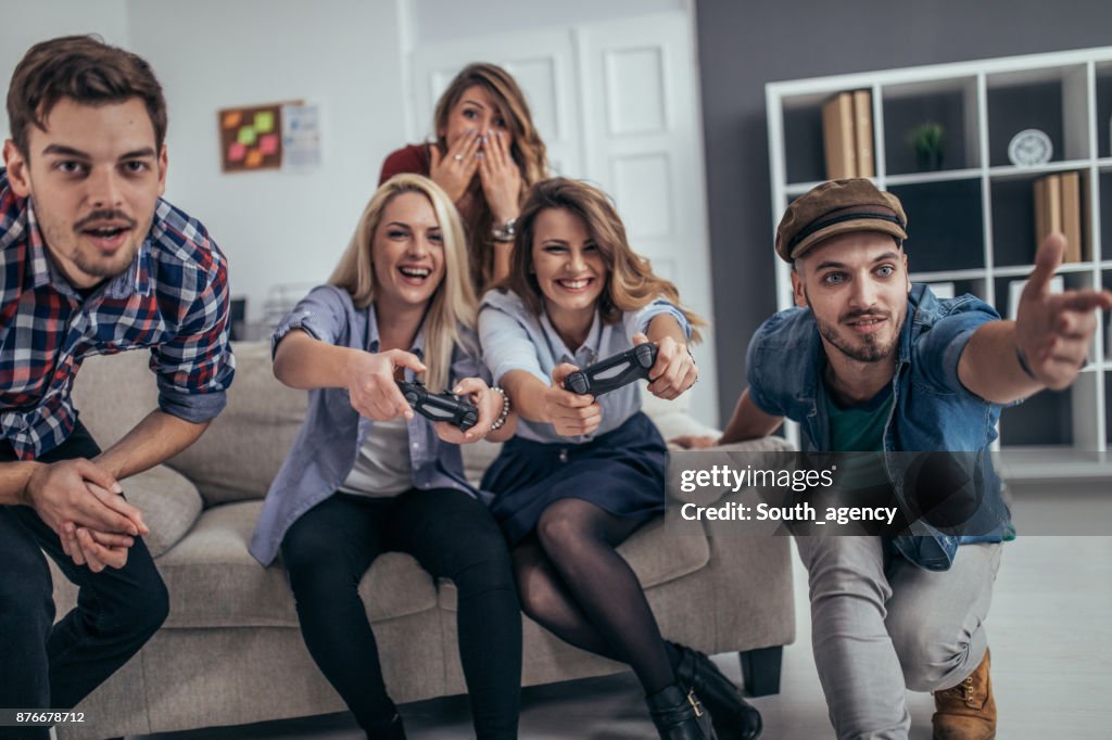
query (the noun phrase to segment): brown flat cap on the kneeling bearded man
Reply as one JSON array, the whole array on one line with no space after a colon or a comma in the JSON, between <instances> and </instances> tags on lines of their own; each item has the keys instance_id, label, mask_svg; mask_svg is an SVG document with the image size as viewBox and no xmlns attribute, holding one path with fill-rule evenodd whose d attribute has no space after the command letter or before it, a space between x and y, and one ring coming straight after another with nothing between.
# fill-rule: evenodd
<instances>
[{"instance_id":1,"label":"brown flat cap on the kneeling bearded man","mask_svg":"<svg viewBox=\"0 0 1112 740\"><path fill-rule=\"evenodd\" d=\"M907 217L900 199L877 190L872 180L831 180L796 198L776 227L776 253L786 262L847 231L882 231L907 238Z\"/></svg>"}]
</instances>

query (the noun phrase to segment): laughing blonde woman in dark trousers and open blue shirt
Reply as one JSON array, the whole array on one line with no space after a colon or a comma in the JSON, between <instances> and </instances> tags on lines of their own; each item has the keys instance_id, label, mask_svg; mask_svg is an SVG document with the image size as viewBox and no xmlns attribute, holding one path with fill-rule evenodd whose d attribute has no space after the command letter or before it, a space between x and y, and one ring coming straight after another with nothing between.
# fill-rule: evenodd
<instances>
[{"instance_id":1,"label":"laughing blonde woman in dark trousers and open blue shirt","mask_svg":"<svg viewBox=\"0 0 1112 740\"><path fill-rule=\"evenodd\" d=\"M358 591L387 551L455 582L476 737L517 737L522 618L509 552L458 447L508 436L514 418L487 387L474 326L459 216L431 180L399 174L368 203L329 284L274 336L275 376L309 390L309 409L251 554L266 566L281 551L309 653L376 740L405 738ZM403 373L469 398L477 423L463 432L415 416Z\"/></svg>"}]
</instances>

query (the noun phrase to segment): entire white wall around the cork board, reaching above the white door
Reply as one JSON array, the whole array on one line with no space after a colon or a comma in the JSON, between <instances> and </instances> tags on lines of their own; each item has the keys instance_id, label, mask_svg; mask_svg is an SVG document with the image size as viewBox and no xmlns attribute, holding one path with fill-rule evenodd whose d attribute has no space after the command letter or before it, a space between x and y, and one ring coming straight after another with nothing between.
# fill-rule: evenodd
<instances>
[{"instance_id":1,"label":"entire white wall around the cork board, reaching above the white door","mask_svg":"<svg viewBox=\"0 0 1112 740\"><path fill-rule=\"evenodd\" d=\"M565 0L558 22L688 2ZM248 299L257 320L271 286L327 279L383 158L407 143L405 37L512 34L554 22L547 0L507 8L505 0L0 0L0 84L7 92L28 47L63 33L98 32L145 57L169 104L167 198L208 227L228 257L232 294ZM222 174L217 111L295 99L321 107L322 167Z\"/></svg>"}]
</instances>

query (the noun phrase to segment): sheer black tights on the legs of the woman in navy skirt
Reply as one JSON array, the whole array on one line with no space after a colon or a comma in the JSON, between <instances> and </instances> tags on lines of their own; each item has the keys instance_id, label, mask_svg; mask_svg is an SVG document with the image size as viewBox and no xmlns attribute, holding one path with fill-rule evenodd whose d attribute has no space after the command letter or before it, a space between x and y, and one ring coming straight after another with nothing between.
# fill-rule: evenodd
<instances>
[{"instance_id":1,"label":"sheer black tights on the legs of the woman in navy skirt","mask_svg":"<svg viewBox=\"0 0 1112 740\"><path fill-rule=\"evenodd\" d=\"M674 652L645 592L614 548L642 522L580 499L560 499L514 550L522 609L558 638L628 663L646 696L676 682Z\"/></svg>"}]
</instances>

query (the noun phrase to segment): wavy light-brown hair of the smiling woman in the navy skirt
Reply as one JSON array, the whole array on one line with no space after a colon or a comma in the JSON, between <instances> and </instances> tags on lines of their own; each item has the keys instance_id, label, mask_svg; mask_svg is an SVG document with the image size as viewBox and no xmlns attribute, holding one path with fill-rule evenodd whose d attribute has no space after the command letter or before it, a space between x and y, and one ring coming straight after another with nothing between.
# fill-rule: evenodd
<instances>
[{"instance_id":1,"label":"wavy light-brown hair of the smiling woman in the navy skirt","mask_svg":"<svg viewBox=\"0 0 1112 740\"><path fill-rule=\"evenodd\" d=\"M587 232L606 264L606 287L598 297L598 312L605 323L617 323L626 311L636 311L657 298L671 301L692 326L692 343L698 342L696 327L706 320L679 303L675 284L653 273L649 261L633 251L625 226L609 197L580 180L553 178L533 186L517 219L517 239L509 261L509 276L502 286L517 293L534 314L544 311L544 293L533 266L533 239L537 217L550 208L564 209L583 219Z\"/></svg>"}]
</instances>

